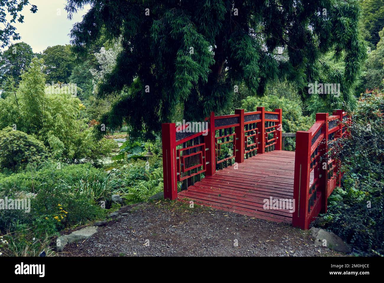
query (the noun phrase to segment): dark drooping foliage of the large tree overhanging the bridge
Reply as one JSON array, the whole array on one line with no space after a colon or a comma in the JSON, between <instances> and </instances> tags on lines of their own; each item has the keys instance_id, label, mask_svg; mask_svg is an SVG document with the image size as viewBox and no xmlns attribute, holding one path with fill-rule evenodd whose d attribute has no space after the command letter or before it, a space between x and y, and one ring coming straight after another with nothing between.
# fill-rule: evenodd
<instances>
[{"instance_id":1,"label":"dark drooping foliage of the large tree overhanging the bridge","mask_svg":"<svg viewBox=\"0 0 384 283\"><path fill-rule=\"evenodd\" d=\"M69 0L70 17L85 3ZM180 103L185 119L200 121L228 107L242 82L262 95L268 82L287 79L306 100L308 82L323 80L319 59L327 52L345 62L332 82L350 89L366 54L358 20L356 0L96 0L71 37L78 56L104 35L121 42L116 67L98 87L98 97L118 97L101 122L114 131L125 121L130 136L154 138Z\"/></svg>"}]
</instances>

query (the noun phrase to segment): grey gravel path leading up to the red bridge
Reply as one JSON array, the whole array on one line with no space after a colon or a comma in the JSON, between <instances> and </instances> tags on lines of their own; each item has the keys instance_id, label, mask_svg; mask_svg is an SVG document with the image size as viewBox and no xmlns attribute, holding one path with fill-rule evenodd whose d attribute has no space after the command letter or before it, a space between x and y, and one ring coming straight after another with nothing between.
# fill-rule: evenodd
<instances>
[{"instance_id":1,"label":"grey gravel path leading up to the red bridge","mask_svg":"<svg viewBox=\"0 0 384 283\"><path fill-rule=\"evenodd\" d=\"M308 231L179 201L127 206L62 256L343 256ZM237 246L236 246L237 243Z\"/></svg>"}]
</instances>

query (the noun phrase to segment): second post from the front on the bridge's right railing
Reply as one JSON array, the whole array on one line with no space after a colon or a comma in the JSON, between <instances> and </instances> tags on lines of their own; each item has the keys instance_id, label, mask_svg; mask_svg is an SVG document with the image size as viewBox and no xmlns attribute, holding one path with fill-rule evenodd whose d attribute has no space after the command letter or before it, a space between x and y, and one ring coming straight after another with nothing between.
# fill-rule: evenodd
<instances>
[{"instance_id":1,"label":"second post from the front on the bridge's right railing","mask_svg":"<svg viewBox=\"0 0 384 283\"><path fill-rule=\"evenodd\" d=\"M324 121L321 132L324 134L324 139L319 146L321 154L321 164L319 166L319 189L323 196L321 203L321 213L326 213L328 208L328 113L316 113L316 121Z\"/></svg>"}]
</instances>

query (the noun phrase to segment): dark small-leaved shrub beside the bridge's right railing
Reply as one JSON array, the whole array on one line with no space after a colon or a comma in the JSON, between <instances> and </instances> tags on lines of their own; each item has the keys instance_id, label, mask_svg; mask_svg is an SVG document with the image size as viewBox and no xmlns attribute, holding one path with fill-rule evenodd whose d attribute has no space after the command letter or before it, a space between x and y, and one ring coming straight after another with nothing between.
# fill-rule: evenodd
<instances>
[{"instance_id":1,"label":"dark small-leaved shrub beside the bridge's right railing","mask_svg":"<svg viewBox=\"0 0 384 283\"><path fill-rule=\"evenodd\" d=\"M331 142L341 161L342 188L329 198L326 228L362 253L384 253L384 94L365 94L353 113L350 137ZM340 146L339 144L342 144Z\"/></svg>"}]
</instances>

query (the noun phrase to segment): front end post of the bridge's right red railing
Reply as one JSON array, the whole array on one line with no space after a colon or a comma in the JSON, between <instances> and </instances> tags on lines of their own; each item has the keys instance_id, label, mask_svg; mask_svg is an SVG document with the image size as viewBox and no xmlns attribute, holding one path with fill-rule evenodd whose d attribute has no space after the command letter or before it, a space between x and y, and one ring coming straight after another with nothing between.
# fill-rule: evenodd
<instances>
[{"instance_id":1,"label":"front end post of the bridge's right red railing","mask_svg":"<svg viewBox=\"0 0 384 283\"><path fill-rule=\"evenodd\" d=\"M311 132L296 132L295 177L293 181L293 200L295 211L292 213L292 226L309 228L308 191L310 186Z\"/></svg>"}]
</instances>

